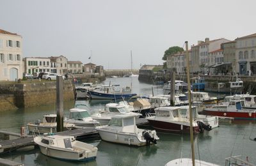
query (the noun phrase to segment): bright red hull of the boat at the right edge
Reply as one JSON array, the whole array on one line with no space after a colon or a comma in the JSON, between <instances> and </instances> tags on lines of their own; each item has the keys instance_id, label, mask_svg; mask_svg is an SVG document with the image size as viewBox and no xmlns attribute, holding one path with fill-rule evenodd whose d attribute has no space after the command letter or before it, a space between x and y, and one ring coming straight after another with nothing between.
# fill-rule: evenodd
<instances>
[{"instance_id":1,"label":"bright red hull of the boat at the right edge","mask_svg":"<svg viewBox=\"0 0 256 166\"><path fill-rule=\"evenodd\" d=\"M254 112L229 112L229 111L216 111L205 109L203 114L211 116L221 116L221 117L234 117L235 119L256 119L256 113Z\"/></svg>"}]
</instances>

